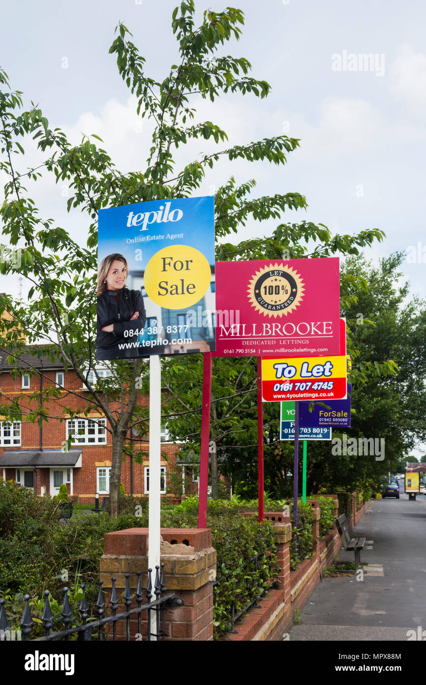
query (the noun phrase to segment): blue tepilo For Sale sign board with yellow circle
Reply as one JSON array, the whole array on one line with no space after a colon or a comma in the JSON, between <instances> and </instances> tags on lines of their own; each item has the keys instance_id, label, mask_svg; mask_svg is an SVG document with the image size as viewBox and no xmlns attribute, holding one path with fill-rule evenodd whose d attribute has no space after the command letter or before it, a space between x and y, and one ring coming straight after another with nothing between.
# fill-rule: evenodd
<instances>
[{"instance_id":1,"label":"blue tepilo For Sale sign board with yellow circle","mask_svg":"<svg viewBox=\"0 0 426 685\"><path fill-rule=\"evenodd\" d=\"M98 212L96 359L215 350L213 196Z\"/></svg>"}]
</instances>

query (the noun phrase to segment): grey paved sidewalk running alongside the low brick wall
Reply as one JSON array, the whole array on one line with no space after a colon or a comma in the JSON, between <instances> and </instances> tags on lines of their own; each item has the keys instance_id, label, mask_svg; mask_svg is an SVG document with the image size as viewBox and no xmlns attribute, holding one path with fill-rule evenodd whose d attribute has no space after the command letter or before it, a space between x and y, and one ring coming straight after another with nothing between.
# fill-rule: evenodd
<instances>
[{"instance_id":1,"label":"grey paved sidewalk running alongside the low brick wall","mask_svg":"<svg viewBox=\"0 0 426 685\"><path fill-rule=\"evenodd\" d=\"M426 499L372 500L355 532L373 540L361 562L379 571L367 566L362 582L325 577L290 640L407 640L408 630L426 630ZM339 560L353 561L354 553L341 551Z\"/></svg>"}]
</instances>

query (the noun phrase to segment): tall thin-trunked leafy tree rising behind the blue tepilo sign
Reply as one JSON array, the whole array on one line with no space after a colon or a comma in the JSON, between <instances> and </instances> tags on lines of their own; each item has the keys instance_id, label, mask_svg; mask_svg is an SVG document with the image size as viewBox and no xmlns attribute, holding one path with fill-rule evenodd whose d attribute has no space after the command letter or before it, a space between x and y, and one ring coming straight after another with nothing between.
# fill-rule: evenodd
<instances>
[{"instance_id":1,"label":"tall thin-trunked leafy tree rising behind the blue tepilo sign","mask_svg":"<svg viewBox=\"0 0 426 685\"><path fill-rule=\"evenodd\" d=\"M299 141L279 135L227 146L226 132L212 121L196 121L194 99L209 98L213 103L223 94L238 93L264 99L270 91L267 82L250 75L246 58L226 55L222 47L239 39L243 12L226 8L207 10L202 23L194 23L194 1L182 2L172 13L172 32L176 36L176 64L162 81L146 72L145 58L133 44L131 33L120 23L109 49L115 55L118 73L137 98L137 115L153 125L152 143L147 150L144 171L123 172L103 148L96 135L83 136L72 145L64 132L49 123L42 110L26 108L23 93L12 90L8 76L0 72L0 171L6 176L5 199L1 206L2 234L13 247L22 248L22 262L3 260L0 271L17 271L31 282L28 301L6 297L1 310L8 310L12 322L1 321L1 344L16 372L20 369L27 343L34 355L59 358L66 369L73 369L87 388L85 412L106 416L113 441L111 466L111 515L118 514L120 471L123 453L129 451L129 428L142 423L147 430L148 416L137 406L139 390L146 390L146 363L112 362L111 379L97 377L88 381L88 371L96 372L94 362L96 320L96 241L98 210L152 199L189 197L197 192L207 169L223 156L228 160L264 160L276 166L287 162L287 155ZM25 136L37 143L40 164L29 168ZM193 139L209 140L214 151L198 158L187 158L176 168L174 151L185 149ZM98 143L101 142L101 145ZM87 229L87 244L79 245L55 219L41 216L25 184L51 179L66 182L71 195L68 212L81 212ZM297 192L255 197L254 181L237 186L235 179L224 179L216 195L215 230L217 240L244 227L250 219L277 218L286 210L306 208L306 199ZM315 227L312 231L315 232ZM19 325L19 329L17 328ZM40 340L44 341L40 349ZM36 371L34 371L36 373ZM56 395L55 395L56 393ZM5 419L48 421L50 397L57 389L45 388L34 395L3 397L0 410ZM112 402L117 401L114 405ZM62 403L63 415L74 416L72 403ZM111 408L112 407L112 408ZM118 407L118 408L116 408ZM56 412L55 412L56 415ZM60 417L60 415L59 415Z\"/></svg>"}]
</instances>

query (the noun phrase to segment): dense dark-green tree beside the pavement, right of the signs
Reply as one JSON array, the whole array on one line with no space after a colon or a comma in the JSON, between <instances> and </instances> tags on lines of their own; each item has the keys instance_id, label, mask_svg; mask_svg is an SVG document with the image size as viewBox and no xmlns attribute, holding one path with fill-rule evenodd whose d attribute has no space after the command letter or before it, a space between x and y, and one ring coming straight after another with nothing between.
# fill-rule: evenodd
<instances>
[{"instance_id":1,"label":"dense dark-green tree beside the pavement, right of the signs","mask_svg":"<svg viewBox=\"0 0 426 685\"><path fill-rule=\"evenodd\" d=\"M378 488L382 477L397 473L410 461L410 451L426 440L426 303L410 297L401 285L403 253L394 253L373 266L362 256L349 258L343 274L356 273L368 289L349 286L351 303L343 307L351 338L359 351L358 366L392 359L396 374L380 372L356 384L352 393L351 427L333 437L384 440L384 458L376 455L338 455L326 445L309 446L308 486L335 490L339 486Z\"/></svg>"}]
</instances>

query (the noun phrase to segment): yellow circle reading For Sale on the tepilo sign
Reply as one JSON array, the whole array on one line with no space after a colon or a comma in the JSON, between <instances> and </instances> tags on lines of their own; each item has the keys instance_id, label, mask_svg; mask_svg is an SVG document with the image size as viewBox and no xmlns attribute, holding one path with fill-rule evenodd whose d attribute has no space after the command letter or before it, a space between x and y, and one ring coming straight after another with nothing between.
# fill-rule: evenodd
<instances>
[{"instance_id":1,"label":"yellow circle reading For Sale on the tepilo sign","mask_svg":"<svg viewBox=\"0 0 426 685\"><path fill-rule=\"evenodd\" d=\"M144 288L165 309L187 309L200 301L211 282L211 268L203 253L189 245L170 245L146 265Z\"/></svg>"}]
</instances>

